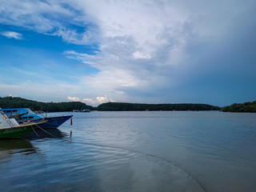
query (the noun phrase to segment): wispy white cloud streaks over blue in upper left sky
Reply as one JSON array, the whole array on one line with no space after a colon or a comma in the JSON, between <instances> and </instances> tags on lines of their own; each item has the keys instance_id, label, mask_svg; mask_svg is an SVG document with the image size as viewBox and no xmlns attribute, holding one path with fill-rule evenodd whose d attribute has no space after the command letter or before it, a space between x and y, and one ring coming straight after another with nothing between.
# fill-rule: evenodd
<instances>
[{"instance_id":1,"label":"wispy white cloud streaks over blue in upper left sky","mask_svg":"<svg viewBox=\"0 0 256 192\"><path fill-rule=\"evenodd\" d=\"M83 18L79 6L71 1L3 0L0 14L2 24L58 36L65 42L86 45L98 41L97 26L90 22L89 17ZM20 38L17 34L8 37Z\"/></svg>"}]
</instances>

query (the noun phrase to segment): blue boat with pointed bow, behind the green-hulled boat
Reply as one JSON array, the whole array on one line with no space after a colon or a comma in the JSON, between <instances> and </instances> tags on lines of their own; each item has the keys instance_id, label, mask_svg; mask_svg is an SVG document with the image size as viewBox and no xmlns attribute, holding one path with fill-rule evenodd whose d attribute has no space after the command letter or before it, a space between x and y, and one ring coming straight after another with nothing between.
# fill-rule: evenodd
<instances>
[{"instance_id":1,"label":"blue boat with pointed bow, behind the green-hulled boat","mask_svg":"<svg viewBox=\"0 0 256 192\"><path fill-rule=\"evenodd\" d=\"M64 122L72 118L73 115L62 115L55 117L47 117L47 114L42 112L32 111L30 108L14 108L14 109L2 109L3 112L9 118L15 118L19 124L24 122L41 122L47 120L46 123L40 126L42 129L55 129L61 126Z\"/></svg>"}]
</instances>

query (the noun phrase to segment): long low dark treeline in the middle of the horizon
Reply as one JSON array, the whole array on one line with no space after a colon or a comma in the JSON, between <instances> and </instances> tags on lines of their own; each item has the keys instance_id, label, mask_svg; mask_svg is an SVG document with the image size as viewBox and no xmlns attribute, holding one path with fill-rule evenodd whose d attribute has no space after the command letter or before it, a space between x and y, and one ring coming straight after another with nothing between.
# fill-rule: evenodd
<instances>
[{"instance_id":1,"label":"long low dark treeline in the middle of the horizon","mask_svg":"<svg viewBox=\"0 0 256 192\"><path fill-rule=\"evenodd\" d=\"M220 110L218 106L207 104L140 104L126 102L107 102L98 106L102 111L124 111L124 110Z\"/></svg>"}]
</instances>

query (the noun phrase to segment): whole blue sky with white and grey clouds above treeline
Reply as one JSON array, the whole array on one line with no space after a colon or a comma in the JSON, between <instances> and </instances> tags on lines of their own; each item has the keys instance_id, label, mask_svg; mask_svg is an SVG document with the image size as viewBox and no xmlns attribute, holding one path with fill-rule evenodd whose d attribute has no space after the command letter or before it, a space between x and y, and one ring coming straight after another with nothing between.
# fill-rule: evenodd
<instances>
[{"instance_id":1,"label":"whole blue sky with white and grey clouds above treeline","mask_svg":"<svg viewBox=\"0 0 256 192\"><path fill-rule=\"evenodd\" d=\"M254 0L1 0L0 97L256 100Z\"/></svg>"}]
</instances>

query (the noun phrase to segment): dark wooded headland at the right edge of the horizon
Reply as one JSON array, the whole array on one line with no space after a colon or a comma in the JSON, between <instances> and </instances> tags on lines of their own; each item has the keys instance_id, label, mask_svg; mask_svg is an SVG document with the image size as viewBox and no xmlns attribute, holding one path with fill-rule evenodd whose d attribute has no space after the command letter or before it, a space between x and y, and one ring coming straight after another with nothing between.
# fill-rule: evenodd
<instances>
[{"instance_id":1,"label":"dark wooded headland at the right edge of the horizon","mask_svg":"<svg viewBox=\"0 0 256 192\"><path fill-rule=\"evenodd\" d=\"M223 112L256 112L255 102L234 103L230 106L222 107Z\"/></svg>"}]
</instances>

